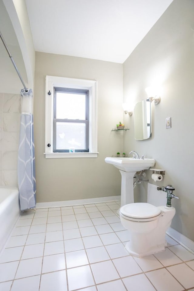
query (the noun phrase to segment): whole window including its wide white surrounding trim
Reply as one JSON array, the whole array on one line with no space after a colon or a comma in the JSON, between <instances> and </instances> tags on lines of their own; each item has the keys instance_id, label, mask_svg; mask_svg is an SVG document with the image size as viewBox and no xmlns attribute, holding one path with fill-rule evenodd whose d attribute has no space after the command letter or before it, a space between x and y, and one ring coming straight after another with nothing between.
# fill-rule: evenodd
<instances>
[{"instance_id":1,"label":"whole window including its wide white surrounding trim","mask_svg":"<svg viewBox=\"0 0 194 291\"><path fill-rule=\"evenodd\" d=\"M46 76L45 157L97 153L96 81Z\"/></svg>"}]
</instances>

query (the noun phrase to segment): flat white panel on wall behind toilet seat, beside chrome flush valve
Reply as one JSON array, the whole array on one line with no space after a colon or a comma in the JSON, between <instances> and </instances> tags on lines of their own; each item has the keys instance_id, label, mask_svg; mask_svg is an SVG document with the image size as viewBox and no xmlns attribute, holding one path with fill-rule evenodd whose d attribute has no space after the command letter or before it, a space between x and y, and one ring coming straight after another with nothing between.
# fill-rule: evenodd
<instances>
[{"instance_id":1,"label":"flat white panel on wall behind toilet seat, beside chrome flush valve","mask_svg":"<svg viewBox=\"0 0 194 291\"><path fill-rule=\"evenodd\" d=\"M148 199L147 202L154 206L166 205L166 192L158 191L156 185L148 183Z\"/></svg>"}]
</instances>

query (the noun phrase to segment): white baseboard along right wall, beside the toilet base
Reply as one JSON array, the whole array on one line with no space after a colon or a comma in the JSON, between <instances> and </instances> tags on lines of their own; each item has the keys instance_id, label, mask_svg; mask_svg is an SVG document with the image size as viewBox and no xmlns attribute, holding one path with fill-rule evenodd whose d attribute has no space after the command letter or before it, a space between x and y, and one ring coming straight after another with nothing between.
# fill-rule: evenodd
<instances>
[{"instance_id":1,"label":"white baseboard along right wall, beside the toilet base","mask_svg":"<svg viewBox=\"0 0 194 291\"><path fill-rule=\"evenodd\" d=\"M172 227L169 227L166 233L172 237L172 239L176 240L177 243L194 253L194 242L191 239L176 231Z\"/></svg>"}]
</instances>

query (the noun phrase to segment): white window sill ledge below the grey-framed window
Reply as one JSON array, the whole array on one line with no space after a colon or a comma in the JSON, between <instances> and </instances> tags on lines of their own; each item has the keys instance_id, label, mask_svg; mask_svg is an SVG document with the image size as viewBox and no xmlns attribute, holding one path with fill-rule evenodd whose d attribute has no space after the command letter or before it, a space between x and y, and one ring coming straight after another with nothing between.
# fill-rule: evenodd
<instances>
[{"instance_id":1,"label":"white window sill ledge below the grey-framed window","mask_svg":"<svg viewBox=\"0 0 194 291\"><path fill-rule=\"evenodd\" d=\"M45 153L46 159L58 159L58 158L97 158L98 152L50 152Z\"/></svg>"}]
</instances>

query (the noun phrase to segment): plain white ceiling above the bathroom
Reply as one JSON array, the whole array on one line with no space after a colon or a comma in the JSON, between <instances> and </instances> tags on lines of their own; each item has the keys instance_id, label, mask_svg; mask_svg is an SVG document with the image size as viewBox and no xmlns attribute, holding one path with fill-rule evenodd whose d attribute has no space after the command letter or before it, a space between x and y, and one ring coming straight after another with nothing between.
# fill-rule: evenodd
<instances>
[{"instance_id":1,"label":"plain white ceiling above the bathroom","mask_svg":"<svg viewBox=\"0 0 194 291\"><path fill-rule=\"evenodd\" d=\"M172 0L25 0L35 50L123 63Z\"/></svg>"}]
</instances>

